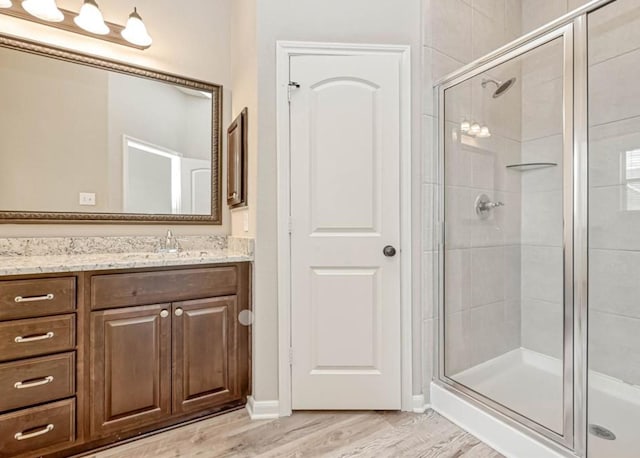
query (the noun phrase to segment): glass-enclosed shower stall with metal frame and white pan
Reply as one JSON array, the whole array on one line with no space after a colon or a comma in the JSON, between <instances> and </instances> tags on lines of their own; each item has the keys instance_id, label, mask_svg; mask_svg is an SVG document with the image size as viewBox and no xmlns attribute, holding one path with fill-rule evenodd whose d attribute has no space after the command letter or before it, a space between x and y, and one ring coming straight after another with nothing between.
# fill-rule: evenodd
<instances>
[{"instance_id":1,"label":"glass-enclosed shower stall with metal frame and white pan","mask_svg":"<svg viewBox=\"0 0 640 458\"><path fill-rule=\"evenodd\" d=\"M640 2L445 77L435 383L561 455L640 455Z\"/></svg>"}]
</instances>

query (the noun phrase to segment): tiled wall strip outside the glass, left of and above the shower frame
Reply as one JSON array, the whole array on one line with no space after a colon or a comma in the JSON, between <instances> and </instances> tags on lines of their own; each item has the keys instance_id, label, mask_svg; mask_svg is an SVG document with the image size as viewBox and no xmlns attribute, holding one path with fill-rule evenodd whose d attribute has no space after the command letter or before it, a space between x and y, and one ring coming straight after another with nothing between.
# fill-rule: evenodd
<instances>
[{"instance_id":1,"label":"tiled wall strip outside the glass, left of and above the shower frame","mask_svg":"<svg viewBox=\"0 0 640 458\"><path fill-rule=\"evenodd\" d=\"M423 338L433 349L435 320L433 218L437 191L437 151L432 86L442 76L513 40L521 32L520 0L423 0ZM479 252L480 254L481 252ZM461 256L467 253L460 251ZM476 258L478 259L478 258ZM464 262L464 261L463 261ZM469 266L469 264L467 264ZM424 393L433 374L433 352L426 352Z\"/></svg>"}]
</instances>

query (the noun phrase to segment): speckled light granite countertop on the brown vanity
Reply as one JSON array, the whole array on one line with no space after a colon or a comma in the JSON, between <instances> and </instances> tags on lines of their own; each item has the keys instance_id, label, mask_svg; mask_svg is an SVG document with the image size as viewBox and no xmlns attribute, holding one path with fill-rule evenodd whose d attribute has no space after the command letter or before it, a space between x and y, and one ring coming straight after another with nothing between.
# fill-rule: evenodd
<instances>
[{"instance_id":1,"label":"speckled light granite countertop on the brown vanity","mask_svg":"<svg viewBox=\"0 0 640 458\"><path fill-rule=\"evenodd\" d=\"M128 246L132 245L131 239L126 239L125 241ZM83 244L87 245L89 242L95 244L96 240L75 239L67 243L67 240L63 239L31 239L28 242L27 239L13 239L10 241L10 245L9 242L6 242L5 245L11 246L15 251L16 244L18 244L20 252L25 253L26 251L27 254L14 255L13 251L0 250L0 276L145 267L197 266L253 261L252 246L248 246L242 241L238 244L237 240L234 241L231 238L229 241L225 238L224 240L216 241L216 243L208 243L206 246L203 245L202 248L189 246L188 241L185 240L184 249L177 253L151 251L150 249L147 250L147 246L136 246L136 248L142 248L139 251L95 252L96 250L88 250L83 246ZM107 243L111 247L114 246L113 239L108 240ZM118 247L122 243L123 240L118 240ZM33 247L25 250L24 247L29 245L45 245L48 251L45 254L44 249L35 250ZM0 248L2 246L3 243L0 243ZM62 246L62 248L53 250L51 246ZM82 246L82 248L79 249L79 246ZM69 247L74 248L70 249ZM98 247L100 251L102 251L102 248L104 247Z\"/></svg>"}]
</instances>

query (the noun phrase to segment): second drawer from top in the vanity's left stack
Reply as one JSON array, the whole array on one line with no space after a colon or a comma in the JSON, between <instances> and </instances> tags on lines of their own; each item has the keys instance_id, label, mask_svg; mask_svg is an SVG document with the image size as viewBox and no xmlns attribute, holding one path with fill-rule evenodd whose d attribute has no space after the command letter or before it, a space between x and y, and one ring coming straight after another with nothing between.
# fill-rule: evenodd
<instances>
[{"instance_id":1,"label":"second drawer from top in the vanity's left stack","mask_svg":"<svg viewBox=\"0 0 640 458\"><path fill-rule=\"evenodd\" d=\"M73 350L75 328L75 315L0 323L0 361Z\"/></svg>"}]
</instances>

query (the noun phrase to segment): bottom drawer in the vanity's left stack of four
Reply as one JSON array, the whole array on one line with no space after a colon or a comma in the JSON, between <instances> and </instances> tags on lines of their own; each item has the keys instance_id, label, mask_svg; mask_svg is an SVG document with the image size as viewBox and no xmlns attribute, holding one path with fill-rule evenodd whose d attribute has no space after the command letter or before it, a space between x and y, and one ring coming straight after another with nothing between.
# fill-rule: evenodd
<instances>
[{"instance_id":1,"label":"bottom drawer in the vanity's left stack of four","mask_svg":"<svg viewBox=\"0 0 640 458\"><path fill-rule=\"evenodd\" d=\"M75 411L75 401L70 399L0 415L0 458L71 445L76 435Z\"/></svg>"}]
</instances>

